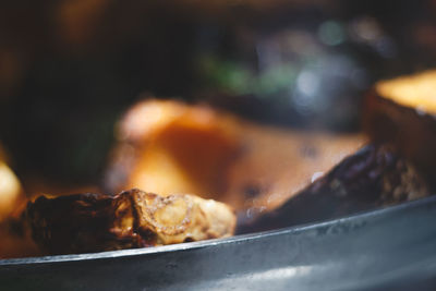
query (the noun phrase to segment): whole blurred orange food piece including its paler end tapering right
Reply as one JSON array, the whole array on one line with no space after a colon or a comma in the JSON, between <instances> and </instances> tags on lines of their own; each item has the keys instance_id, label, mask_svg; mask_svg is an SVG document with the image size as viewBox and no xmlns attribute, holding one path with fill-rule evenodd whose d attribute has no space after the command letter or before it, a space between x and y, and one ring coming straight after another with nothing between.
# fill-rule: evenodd
<instances>
[{"instance_id":1,"label":"whole blurred orange food piece including its paler end tapering right","mask_svg":"<svg viewBox=\"0 0 436 291\"><path fill-rule=\"evenodd\" d=\"M365 143L361 134L280 130L205 106L147 100L121 120L109 192L202 193L238 210L274 209Z\"/></svg>"}]
</instances>

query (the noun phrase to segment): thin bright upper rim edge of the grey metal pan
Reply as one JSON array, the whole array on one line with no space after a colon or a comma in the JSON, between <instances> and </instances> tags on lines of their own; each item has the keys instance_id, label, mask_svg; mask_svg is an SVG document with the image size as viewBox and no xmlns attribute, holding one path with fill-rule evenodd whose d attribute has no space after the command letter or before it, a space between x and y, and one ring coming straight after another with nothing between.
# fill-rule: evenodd
<instances>
[{"instance_id":1,"label":"thin bright upper rim edge of the grey metal pan","mask_svg":"<svg viewBox=\"0 0 436 291\"><path fill-rule=\"evenodd\" d=\"M258 239L263 239L266 237L276 237L283 235L288 233L300 233L306 230L323 228L323 227L331 227L340 223L350 223L354 221L364 221L368 219L375 219L377 217L393 214L398 211L402 211L405 208L415 208L425 204L434 204L436 203L436 195L424 197L421 199L405 202L399 205L379 208L371 211L358 213L354 215L330 219L320 222L312 222L307 225L299 225L282 229L276 229L264 232L255 232L249 234L240 234L234 235L227 239L215 239L215 240L206 240L199 242L187 242L172 245L164 245L164 246L155 246L155 247L143 247L143 248L130 248L130 250L120 250L120 251L109 251L109 252L100 252L100 253L88 253L88 254L72 254L72 255L55 255L55 256L43 256L43 257L25 257L25 258L9 258L9 259L0 259L0 266L12 266L12 265L34 265L34 264L51 264L51 263L64 263L64 262L76 262L76 260L95 260L95 259L106 259L106 258L120 258L120 257L130 257L130 256L145 256L150 254L161 254L169 252L181 252L194 248L204 248L204 247L216 247L225 244L238 244L242 242L255 241Z\"/></svg>"}]
</instances>

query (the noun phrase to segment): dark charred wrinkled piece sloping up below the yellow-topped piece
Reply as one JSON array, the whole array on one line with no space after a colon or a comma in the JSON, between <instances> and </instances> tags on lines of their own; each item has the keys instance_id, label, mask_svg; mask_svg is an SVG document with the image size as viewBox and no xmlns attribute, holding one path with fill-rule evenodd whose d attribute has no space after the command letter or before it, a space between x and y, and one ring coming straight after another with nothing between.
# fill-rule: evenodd
<instances>
[{"instance_id":1,"label":"dark charred wrinkled piece sloping up below the yellow-topped piece","mask_svg":"<svg viewBox=\"0 0 436 291\"><path fill-rule=\"evenodd\" d=\"M241 219L238 233L338 218L429 194L422 175L391 146L368 145L274 211Z\"/></svg>"}]
</instances>

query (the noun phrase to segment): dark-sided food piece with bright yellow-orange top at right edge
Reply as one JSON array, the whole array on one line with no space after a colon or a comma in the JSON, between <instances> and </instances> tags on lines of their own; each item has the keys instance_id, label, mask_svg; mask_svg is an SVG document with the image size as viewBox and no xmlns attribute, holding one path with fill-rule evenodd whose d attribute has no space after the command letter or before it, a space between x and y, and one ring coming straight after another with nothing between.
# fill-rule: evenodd
<instances>
[{"instance_id":1,"label":"dark-sided food piece with bright yellow-orange top at right edge","mask_svg":"<svg viewBox=\"0 0 436 291\"><path fill-rule=\"evenodd\" d=\"M378 82L365 102L364 128L390 142L436 181L436 71Z\"/></svg>"}]
</instances>

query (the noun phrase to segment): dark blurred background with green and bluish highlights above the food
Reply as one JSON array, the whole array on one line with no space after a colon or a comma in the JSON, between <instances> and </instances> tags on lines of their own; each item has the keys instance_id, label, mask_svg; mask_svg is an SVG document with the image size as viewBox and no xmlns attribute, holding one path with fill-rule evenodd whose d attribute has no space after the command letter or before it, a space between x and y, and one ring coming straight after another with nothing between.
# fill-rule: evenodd
<instances>
[{"instance_id":1,"label":"dark blurred background with green and bluish highlights above the food","mask_svg":"<svg viewBox=\"0 0 436 291\"><path fill-rule=\"evenodd\" d=\"M436 1L2 1L0 39L12 168L86 184L122 112L149 96L359 131L376 80L435 66Z\"/></svg>"}]
</instances>

